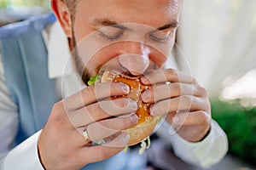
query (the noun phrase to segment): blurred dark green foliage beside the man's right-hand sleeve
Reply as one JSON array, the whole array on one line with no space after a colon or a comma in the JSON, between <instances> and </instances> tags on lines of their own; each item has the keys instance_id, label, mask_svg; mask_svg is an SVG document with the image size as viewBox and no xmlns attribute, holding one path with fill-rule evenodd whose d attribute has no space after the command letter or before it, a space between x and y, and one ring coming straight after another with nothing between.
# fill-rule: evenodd
<instances>
[{"instance_id":1,"label":"blurred dark green foliage beside the man's right-hand sleeve","mask_svg":"<svg viewBox=\"0 0 256 170\"><path fill-rule=\"evenodd\" d=\"M229 139L230 154L256 164L256 107L245 108L240 100L212 101L212 118Z\"/></svg>"}]
</instances>

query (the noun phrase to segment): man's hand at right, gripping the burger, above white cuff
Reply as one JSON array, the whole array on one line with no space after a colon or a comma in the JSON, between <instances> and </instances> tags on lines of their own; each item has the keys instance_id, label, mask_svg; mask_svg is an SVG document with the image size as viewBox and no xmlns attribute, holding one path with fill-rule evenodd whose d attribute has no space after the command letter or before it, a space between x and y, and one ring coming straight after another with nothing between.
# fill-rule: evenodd
<instances>
[{"instance_id":1,"label":"man's hand at right, gripping the burger, above white cuff","mask_svg":"<svg viewBox=\"0 0 256 170\"><path fill-rule=\"evenodd\" d=\"M141 81L154 84L142 95L144 102L154 102L151 116L167 113L166 121L190 142L205 137L210 129L210 103L207 91L194 78L173 69L159 69L149 72Z\"/></svg>"}]
</instances>

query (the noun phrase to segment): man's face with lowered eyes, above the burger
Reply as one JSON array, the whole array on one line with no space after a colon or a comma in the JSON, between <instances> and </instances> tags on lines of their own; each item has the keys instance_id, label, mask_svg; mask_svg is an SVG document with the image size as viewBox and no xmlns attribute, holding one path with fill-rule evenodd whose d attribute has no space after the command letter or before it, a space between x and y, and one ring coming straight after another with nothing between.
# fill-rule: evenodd
<instances>
[{"instance_id":1,"label":"man's face with lowered eyes, above the burger","mask_svg":"<svg viewBox=\"0 0 256 170\"><path fill-rule=\"evenodd\" d=\"M180 4L180 0L80 0L72 25L73 48L92 50L94 44L102 48L90 52L93 56L86 52L77 56L79 72L87 79L104 66L139 75L164 65L172 49Z\"/></svg>"}]
</instances>

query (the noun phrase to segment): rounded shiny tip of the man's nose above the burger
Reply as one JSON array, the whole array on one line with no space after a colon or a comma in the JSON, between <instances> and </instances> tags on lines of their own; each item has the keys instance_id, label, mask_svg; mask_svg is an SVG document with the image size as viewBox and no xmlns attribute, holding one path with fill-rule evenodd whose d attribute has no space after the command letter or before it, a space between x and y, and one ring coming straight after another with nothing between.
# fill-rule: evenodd
<instances>
[{"instance_id":1,"label":"rounded shiny tip of the man's nose above the burger","mask_svg":"<svg viewBox=\"0 0 256 170\"><path fill-rule=\"evenodd\" d=\"M139 76L148 68L148 54L121 54L119 55L119 63L133 76Z\"/></svg>"}]
</instances>

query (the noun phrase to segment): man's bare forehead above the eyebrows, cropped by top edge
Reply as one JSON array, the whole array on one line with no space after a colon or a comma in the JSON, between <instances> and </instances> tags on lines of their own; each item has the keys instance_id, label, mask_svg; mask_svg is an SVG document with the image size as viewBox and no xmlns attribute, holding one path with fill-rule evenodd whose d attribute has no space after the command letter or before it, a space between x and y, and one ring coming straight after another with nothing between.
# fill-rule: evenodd
<instances>
[{"instance_id":1,"label":"man's bare forehead above the eyebrows, cropped by top edge","mask_svg":"<svg viewBox=\"0 0 256 170\"><path fill-rule=\"evenodd\" d=\"M158 27L178 20L181 0L80 0L76 17Z\"/></svg>"}]
</instances>

